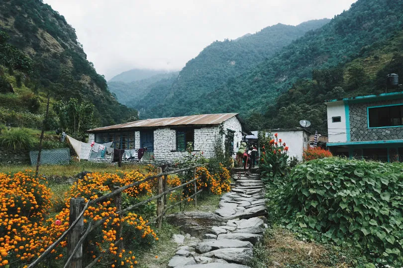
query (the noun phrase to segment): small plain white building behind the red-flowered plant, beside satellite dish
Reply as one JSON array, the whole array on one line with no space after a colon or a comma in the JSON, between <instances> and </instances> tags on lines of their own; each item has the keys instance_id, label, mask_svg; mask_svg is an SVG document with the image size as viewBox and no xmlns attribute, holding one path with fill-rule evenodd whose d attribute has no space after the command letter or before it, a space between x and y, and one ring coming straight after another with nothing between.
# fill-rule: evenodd
<instances>
[{"instance_id":1,"label":"small plain white building behind the red-flowered plant, beside satellite dish","mask_svg":"<svg viewBox=\"0 0 403 268\"><path fill-rule=\"evenodd\" d=\"M309 133L302 128L295 128L268 130L266 135L271 134L273 136L275 133L289 147L288 155L297 157L299 161L302 161L303 150L309 148ZM249 143L257 143L258 132L252 131L252 135L247 135L246 139Z\"/></svg>"}]
</instances>

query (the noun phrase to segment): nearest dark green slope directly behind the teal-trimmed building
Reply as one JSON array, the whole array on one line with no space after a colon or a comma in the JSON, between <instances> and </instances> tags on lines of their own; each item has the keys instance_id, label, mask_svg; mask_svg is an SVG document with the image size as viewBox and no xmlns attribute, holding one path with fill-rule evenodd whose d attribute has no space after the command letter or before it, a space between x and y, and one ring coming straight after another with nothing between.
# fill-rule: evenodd
<instances>
[{"instance_id":1,"label":"nearest dark green slope directly behind the teal-trimmed building","mask_svg":"<svg viewBox=\"0 0 403 268\"><path fill-rule=\"evenodd\" d=\"M388 40L363 48L352 61L337 67L312 71L312 79L301 79L269 106L264 116L254 114L254 125L290 128L299 120L311 121L312 132L327 133L324 101L343 97L383 93L386 75L397 73L403 79L403 30ZM389 89L391 91L401 89ZM331 130L330 130L331 131Z\"/></svg>"}]
</instances>

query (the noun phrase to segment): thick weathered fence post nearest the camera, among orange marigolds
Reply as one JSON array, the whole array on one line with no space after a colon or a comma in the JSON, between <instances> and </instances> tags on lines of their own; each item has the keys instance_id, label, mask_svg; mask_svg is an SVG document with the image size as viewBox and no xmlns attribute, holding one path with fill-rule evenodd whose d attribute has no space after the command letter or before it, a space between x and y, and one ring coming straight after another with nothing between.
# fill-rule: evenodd
<instances>
[{"instance_id":1,"label":"thick weathered fence post nearest the camera, among orange marigolds","mask_svg":"<svg viewBox=\"0 0 403 268\"><path fill-rule=\"evenodd\" d=\"M70 200L70 215L69 215L69 225L71 225L78 217L80 212L84 209L85 200L84 198L72 198ZM69 233L67 238L67 253L69 257L71 256L77 242L80 240L81 234L84 230L84 216L81 216L76 226ZM74 254L72 261L70 262L68 268L82 268L83 264L83 244Z\"/></svg>"}]
</instances>

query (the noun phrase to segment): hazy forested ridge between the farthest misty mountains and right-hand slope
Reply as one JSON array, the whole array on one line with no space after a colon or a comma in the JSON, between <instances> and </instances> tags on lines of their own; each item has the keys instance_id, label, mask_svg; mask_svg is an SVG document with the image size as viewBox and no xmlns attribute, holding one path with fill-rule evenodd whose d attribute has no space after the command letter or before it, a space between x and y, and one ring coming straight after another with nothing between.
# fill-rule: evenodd
<instances>
[{"instance_id":1,"label":"hazy forested ridge between the farthest misty mountains and right-hand slope","mask_svg":"<svg viewBox=\"0 0 403 268\"><path fill-rule=\"evenodd\" d=\"M195 102L202 94L209 94L222 83L234 80L247 69L271 58L307 31L319 28L328 21L328 19L312 20L298 26L277 24L236 40L215 41L180 71L175 83L166 88L162 103L139 100L133 107L144 111L144 117L196 113L200 111L200 107L195 106ZM161 89L160 85L157 87ZM154 90L151 89L149 92L146 99L155 96ZM155 109L156 107L158 109Z\"/></svg>"}]
</instances>

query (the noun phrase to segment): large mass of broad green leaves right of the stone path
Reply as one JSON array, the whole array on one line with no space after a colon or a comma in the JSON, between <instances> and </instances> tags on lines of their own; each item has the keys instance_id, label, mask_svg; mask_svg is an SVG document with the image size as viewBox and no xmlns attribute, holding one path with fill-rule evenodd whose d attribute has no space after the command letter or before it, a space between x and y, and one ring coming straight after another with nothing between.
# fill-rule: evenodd
<instances>
[{"instance_id":1,"label":"large mass of broad green leaves right of the stone path","mask_svg":"<svg viewBox=\"0 0 403 268\"><path fill-rule=\"evenodd\" d=\"M403 164L332 157L298 165L279 195L281 221L319 231L370 259L403 265ZM385 263L384 263L385 264Z\"/></svg>"}]
</instances>

